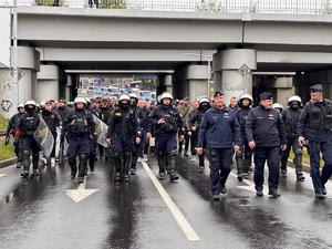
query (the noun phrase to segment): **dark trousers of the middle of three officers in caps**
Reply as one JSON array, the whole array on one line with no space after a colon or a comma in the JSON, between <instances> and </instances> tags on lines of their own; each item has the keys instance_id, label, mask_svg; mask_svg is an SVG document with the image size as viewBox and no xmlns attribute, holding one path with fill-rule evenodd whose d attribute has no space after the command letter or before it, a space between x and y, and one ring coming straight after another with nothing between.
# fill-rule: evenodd
<instances>
[{"instance_id":1,"label":"dark trousers of the middle of three officers in caps","mask_svg":"<svg viewBox=\"0 0 332 249\"><path fill-rule=\"evenodd\" d=\"M263 189L264 164L268 162L269 168L269 190L278 189L280 169L280 147L256 147L255 148L255 175L253 181L257 190Z\"/></svg>"}]
</instances>

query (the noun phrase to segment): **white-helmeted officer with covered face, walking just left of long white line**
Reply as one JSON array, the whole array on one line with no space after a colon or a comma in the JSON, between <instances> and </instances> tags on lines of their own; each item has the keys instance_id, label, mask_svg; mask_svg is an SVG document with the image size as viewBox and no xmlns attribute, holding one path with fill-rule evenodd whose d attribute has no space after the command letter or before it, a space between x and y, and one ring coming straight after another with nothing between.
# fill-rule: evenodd
<instances>
[{"instance_id":1,"label":"white-helmeted officer with covered face, walking just left of long white line","mask_svg":"<svg viewBox=\"0 0 332 249\"><path fill-rule=\"evenodd\" d=\"M137 114L131 108L131 97L123 94L118 107L111 113L107 143L113 146L115 181L129 181L129 167L134 141L141 143L141 127Z\"/></svg>"}]
</instances>

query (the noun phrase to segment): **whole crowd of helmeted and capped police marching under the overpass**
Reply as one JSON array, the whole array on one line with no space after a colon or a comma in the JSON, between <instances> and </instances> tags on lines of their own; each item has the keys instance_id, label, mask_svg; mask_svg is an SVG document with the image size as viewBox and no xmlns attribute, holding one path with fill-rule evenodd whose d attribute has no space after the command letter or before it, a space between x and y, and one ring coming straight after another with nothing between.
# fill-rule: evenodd
<instances>
[{"instance_id":1,"label":"whole crowd of helmeted and capped police marching under the overpass","mask_svg":"<svg viewBox=\"0 0 332 249\"><path fill-rule=\"evenodd\" d=\"M115 181L129 181L131 175L136 174L137 159L147 160L153 139L158 178L163 180L168 174L175 183L179 178L176 157L183 151L188 157L190 144L193 162L198 157L198 172L205 170L205 157L209 162L214 200L226 194L234 157L239 181L249 178L253 170L258 197L263 196L267 163L269 196L278 198L279 177L287 176L291 148L297 179L304 180L305 146L315 197L323 198L324 185L332 175L332 102L323 98L322 85L312 85L310 94L304 107L301 97L294 95L284 110L273 104L269 92L259 95L256 107L250 94L242 94L238 101L232 97L227 106L220 91L215 92L212 100L201 97L193 104L188 97L174 100L167 92L158 97L157 105L147 105L134 93L122 94L118 100L77 96L72 104L65 100L40 104L27 101L9 121L6 144L10 136L14 138L17 166L23 166L22 177L29 177L31 157L33 174L40 175L40 155L44 164L52 166L61 155L66 155L71 178L79 184L84 181L87 169L94 172L97 152L100 158L114 166ZM41 124L46 125L52 143L38 139ZM106 131L101 132L103 128ZM41 153L46 146L51 146L49 153Z\"/></svg>"}]
</instances>

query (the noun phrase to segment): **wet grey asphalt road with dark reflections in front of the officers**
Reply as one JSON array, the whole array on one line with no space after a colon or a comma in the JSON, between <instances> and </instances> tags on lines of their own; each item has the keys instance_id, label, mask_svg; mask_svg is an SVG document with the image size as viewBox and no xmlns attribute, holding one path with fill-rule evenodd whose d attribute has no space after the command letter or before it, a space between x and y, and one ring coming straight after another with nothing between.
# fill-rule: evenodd
<instances>
[{"instance_id":1,"label":"wet grey asphalt road with dark reflections in front of the officers","mask_svg":"<svg viewBox=\"0 0 332 249\"><path fill-rule=\"evenodd\" d=\"M14 166L0 169L0 248L332 248L331 183L328 198L317 200L309 175L298 183L289 168L279 199L258 198L252 178L238 183L234 170L216 203L209 170L200 174L197 162L178 157L179 183L158 181L180 212L174 214L137 165L129 184L115 184L112 166L98 162L80 186L68 165L29 180ZM148 166L156 175L154 158ZM197 239L188 239L179 215Z\"/></svg>"}]
</instances>

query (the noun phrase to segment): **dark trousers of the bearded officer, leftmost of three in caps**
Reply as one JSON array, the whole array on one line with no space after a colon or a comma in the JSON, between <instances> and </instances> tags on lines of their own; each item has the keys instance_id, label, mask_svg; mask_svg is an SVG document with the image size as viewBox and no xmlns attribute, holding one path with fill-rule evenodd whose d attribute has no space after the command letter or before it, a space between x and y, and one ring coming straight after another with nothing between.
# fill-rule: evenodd
<instances>
[{"instance_id":1,"label":"dark trousers of the bearded officer, leftmost of three in caps","mask_svg":"<svg viewBox=\"0 0 332 249\"><path fill-rule=\"evenodd\" d=\"M231 155L231 148L208 148L212 195L220 194L221 187L225 187L230 173Z\"/></svg>"}]
</instances>

